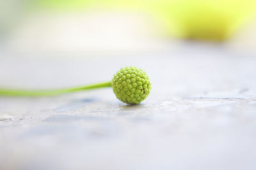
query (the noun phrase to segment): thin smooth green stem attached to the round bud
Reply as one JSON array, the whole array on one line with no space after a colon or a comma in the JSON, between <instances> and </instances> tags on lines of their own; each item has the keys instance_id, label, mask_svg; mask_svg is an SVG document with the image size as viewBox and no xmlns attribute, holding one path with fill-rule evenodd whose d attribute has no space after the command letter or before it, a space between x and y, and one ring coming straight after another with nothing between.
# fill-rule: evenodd
<instances>
[{"instance_id":1,"label":"thin smooth green stem attached to the round bud","mask_svg":"<svg viewBox=\"0 0 256 170\"><path fill-rule=\"evenodd\" d=\"M78 92L81 90L99 89L103 87L111 87L111 81L86 85L82 87L74 87L68 89L55 90L17 90L17 89L0 89L0 96L54 96L59 94Z\"/></svg>"}]
</instances>

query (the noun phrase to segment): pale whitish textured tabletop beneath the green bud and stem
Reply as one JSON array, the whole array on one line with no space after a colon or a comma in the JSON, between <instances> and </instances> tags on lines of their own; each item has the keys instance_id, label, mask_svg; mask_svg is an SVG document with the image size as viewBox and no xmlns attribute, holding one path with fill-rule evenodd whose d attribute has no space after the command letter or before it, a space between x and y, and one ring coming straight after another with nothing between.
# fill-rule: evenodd
<instances>
[{"instance_id":1,"label":"pale whitish textured tabletop beneath the green bud and stem","mask_svg":"<svg viewBox=\"0 0 256 170\"><path fill-rule=\"evenodd\" d=\"M72 87L138 66L152 92L136 106L111 89L0 97L0 169L256 168L255 57L189 44L127 55L1 56L1 87Z\"/></svg>"}]
</instances>

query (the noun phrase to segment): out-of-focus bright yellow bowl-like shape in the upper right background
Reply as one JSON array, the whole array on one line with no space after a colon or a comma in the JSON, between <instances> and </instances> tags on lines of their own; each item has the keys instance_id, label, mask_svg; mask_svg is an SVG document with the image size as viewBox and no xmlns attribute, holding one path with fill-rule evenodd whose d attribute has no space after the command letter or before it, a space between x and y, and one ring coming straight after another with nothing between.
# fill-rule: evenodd
<instances>
[{"instance_id":1,"label":"out-of-focus bright yellow bowl-like shape in the upper right background","mask_svg":"<svg viewBox=\"0 0 256 170\"><path fill-rule=\"evenodd\" d=\"M254 0L179 0L162 3L152 9L156 9L169 33L188 39L227 39L256 11Z\"/></svg>"}]
</instances>

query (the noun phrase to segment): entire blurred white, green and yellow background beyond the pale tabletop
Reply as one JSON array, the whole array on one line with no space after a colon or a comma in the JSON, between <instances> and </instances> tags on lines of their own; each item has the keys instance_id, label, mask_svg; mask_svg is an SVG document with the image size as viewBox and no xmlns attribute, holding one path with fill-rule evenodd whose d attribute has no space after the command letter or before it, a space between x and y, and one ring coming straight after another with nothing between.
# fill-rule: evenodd
<instances>
[{"instance_id":1,"label":"entire blurred white, green and yellow background beyond the pale tabletop","mask_svg":"<svg viewBox=\"0 0 256 170\"><path fill-rule=\"evenodd\" d=\"M6 52L37 55L148 52L177 39L255 53L255 6L254 0L1 0L0 42Z\"/></svg>"}]
</instances>

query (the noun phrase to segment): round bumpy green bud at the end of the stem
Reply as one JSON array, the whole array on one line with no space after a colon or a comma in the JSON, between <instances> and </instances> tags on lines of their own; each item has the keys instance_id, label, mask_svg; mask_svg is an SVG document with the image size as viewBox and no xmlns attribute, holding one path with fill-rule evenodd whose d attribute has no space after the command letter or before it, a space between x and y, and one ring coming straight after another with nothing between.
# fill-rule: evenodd
<instances>
[{"instance_id":1,"label":"round bumpy green bud at the end of the stem","mask_svg":"<svg viewBox=\"0 0 256 170\"><path fill-rule=\"evenodd\" d=\"M151 90L148 75L137 67L120 69L114 75L111 85L116 97L129 104L141 103Z\"/></svg>"}]
</instances>

